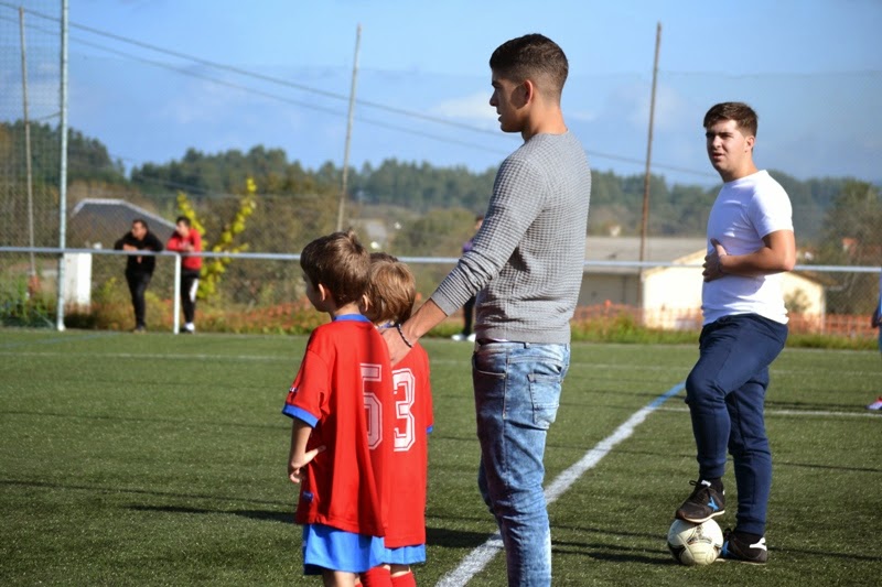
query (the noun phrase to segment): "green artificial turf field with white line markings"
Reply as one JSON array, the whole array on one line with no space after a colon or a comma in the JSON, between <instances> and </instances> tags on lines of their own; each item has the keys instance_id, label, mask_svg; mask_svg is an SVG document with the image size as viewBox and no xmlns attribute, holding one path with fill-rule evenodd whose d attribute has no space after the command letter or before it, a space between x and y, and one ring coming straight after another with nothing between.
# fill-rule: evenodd
<instances>
[{"instance_id":1,"label":"green artificial turf field with white line markings","mask_svg":"<svg viewBox=\"0 0 882 587\"><path fill-rule=\"evenodd\" d=\"M304 337L0 329L0 583L320 585L301 575L281 403ZM426 341L420 585L505 585L477 493L470 345ZM875 585L878 351L785 349L767 427L770 564L687 568L665 547L696 472L680 382L695 345L573 345L546 457L555 585ZM734 504L734 478L724 479ZM730 507L721 525L734 522Z\"/></svg>"}]
</instances>

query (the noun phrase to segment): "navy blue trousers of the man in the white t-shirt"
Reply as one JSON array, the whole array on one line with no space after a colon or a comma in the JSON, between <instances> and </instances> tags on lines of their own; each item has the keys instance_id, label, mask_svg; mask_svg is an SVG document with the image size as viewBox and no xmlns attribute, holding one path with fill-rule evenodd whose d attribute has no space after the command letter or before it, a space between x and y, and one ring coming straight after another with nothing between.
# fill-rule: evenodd
<instances>
[{"instance_id":1,"label":"navy blue trousers of the man in the white t-shirt","mask_svg":"<svg viewBox=\"0 0 882 587\"><path fill-rule=\"evenodd\" d=\"M686 379L701 479L722 477L727 447L738 489L736 529L765 533L772 452L763 409L768 366L787 340L787 326L757 316L725 316L701 329L699 359Z\"/></svg>"}]
</instances>

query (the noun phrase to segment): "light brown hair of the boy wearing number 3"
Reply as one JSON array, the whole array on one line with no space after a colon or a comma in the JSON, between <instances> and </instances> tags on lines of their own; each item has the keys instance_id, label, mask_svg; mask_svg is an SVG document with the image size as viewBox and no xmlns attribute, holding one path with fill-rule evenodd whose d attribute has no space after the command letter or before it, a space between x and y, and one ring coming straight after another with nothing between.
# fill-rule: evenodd
<instances>
[{"instance_id":1,"label":"light brown hair of the boy wearing number 3","mask_svg":"<svg viewBox=\"0 0 882 587\"><path fill-rule=\"evenodd\" d=\"M417 300L417 280L410 268L388 253L372 253L367 300L364 314L375 324L408 319Z\"/></svg>"}]
</instances>

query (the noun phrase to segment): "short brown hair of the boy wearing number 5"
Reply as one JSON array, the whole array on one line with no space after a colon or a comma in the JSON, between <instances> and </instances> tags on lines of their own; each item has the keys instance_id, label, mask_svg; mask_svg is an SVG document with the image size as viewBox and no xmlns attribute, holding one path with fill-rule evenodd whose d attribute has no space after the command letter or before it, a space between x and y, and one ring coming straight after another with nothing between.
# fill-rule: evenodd
<instances>
[{"instance_id":1,"label":"short brown hair of the boy wearing number 5","mask_svg":"<svg viewBox=\"0 0 882 587\"><path fill-rule=\"evenodd\" d=\"M370 254L352 230L319 237L303 248L300 267L314 286L331 291L343 306L361 301L370 279Z\"/></svg>"}]
</instances>

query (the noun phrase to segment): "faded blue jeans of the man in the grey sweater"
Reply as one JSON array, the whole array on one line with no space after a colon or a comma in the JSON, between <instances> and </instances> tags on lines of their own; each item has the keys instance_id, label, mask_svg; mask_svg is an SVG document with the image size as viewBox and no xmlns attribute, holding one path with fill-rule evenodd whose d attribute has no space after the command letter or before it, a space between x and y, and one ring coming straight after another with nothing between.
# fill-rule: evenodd
<instances>
[{"instance_id":1,"label":"faded blue jeans of the man in the grey sweater","mask_svg":"<svg viewBox=\"0 0 882 587\"><path fill-rule=\"evenodd\" d=\"M542 458L569 365L569 345L487 343L472 357L477 485L499 526L508 585L551 584Z\"/></svg>"}]
</instances>

